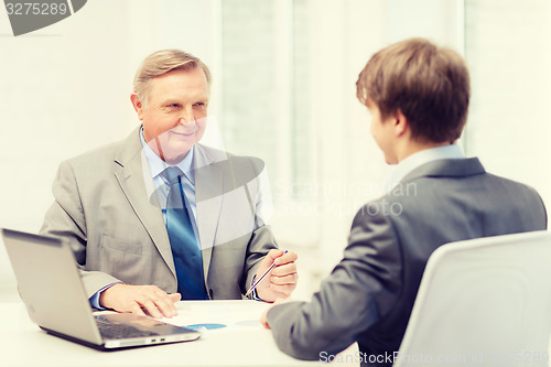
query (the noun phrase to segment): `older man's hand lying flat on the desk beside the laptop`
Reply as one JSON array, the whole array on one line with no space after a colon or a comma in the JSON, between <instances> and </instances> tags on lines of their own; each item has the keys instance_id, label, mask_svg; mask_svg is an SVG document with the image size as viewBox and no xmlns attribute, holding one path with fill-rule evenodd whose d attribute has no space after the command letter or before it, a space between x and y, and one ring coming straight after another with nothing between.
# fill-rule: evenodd
<instances>
[{"instance_id":1,"label":"older man's hand lying flat on the desk beside the laptop","mask_svg":"<svg viewBox=\"0 0 551 367\"><path fill-rule=\"evenodd\" d=\"M174 303L180 298L180 293L168 294L155 285L115 284L101 292L99 305L145 316L143 307L151 316L162 319L177 314Z\"/></svg>"}]
</instances>

